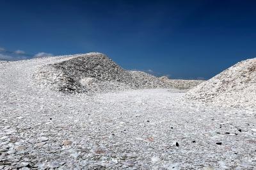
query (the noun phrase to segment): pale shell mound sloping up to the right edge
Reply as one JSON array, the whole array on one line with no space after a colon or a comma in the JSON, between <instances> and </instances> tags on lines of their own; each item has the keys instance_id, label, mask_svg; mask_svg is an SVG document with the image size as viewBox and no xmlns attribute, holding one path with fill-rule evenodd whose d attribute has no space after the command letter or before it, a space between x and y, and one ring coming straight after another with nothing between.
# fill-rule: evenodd
<instances>
[{"instance_id":1,"label":"pale shell mound sloping up to the right edge","mask_svg":"<svg viewBox=\"0 0 256 170\"><path fill-rule=\"evenodd\" d=\"M256 104L256 58L241 61L191 89L187 98L227 106Z\"/></svg>"}]
</instances>

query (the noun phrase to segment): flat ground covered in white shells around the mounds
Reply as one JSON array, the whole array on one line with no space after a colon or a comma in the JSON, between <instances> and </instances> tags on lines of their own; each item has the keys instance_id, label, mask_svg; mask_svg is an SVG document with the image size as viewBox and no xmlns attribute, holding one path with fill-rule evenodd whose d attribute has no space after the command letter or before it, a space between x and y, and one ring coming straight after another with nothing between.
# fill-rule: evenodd
<instances>
[{"instance_id":1,"label":"flat ground covered in white shells around the mounds","mask_svg":"<svg viewBox=\"0 0 256 170\"><path fill-rule=\"evenodd\" d=\"M177 89L50 91L33 73L54 60L0 63L0 169L256 166L256 109L184 100Z\"/></svg>"}]
</instances>

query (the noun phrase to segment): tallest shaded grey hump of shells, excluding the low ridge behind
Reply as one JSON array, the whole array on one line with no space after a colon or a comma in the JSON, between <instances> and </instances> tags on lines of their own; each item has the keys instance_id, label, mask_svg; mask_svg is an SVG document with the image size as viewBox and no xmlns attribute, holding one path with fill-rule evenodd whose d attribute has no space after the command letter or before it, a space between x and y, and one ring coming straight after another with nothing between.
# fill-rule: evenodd
<instances>
[{"instance_id":1,"label":"tallest shaded grey hump of shells, excluding the low ridge behind","mask_svg":"<svg viewBox=\"0 0 256 170\"><path fill-rule=\"evenodd\" d=\"M42 66L36 75L45 86L67 93L101 91L106 86L116 89L132 85L129 84L129 73L106 55L97 52L79 54Z\"/></svg>"}]
</instances>

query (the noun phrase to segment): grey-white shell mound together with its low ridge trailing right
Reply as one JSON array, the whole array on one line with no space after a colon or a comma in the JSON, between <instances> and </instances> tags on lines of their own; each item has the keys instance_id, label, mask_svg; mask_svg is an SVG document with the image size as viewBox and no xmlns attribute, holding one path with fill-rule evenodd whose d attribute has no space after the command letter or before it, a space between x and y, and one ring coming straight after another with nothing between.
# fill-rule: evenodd
<instances>
[{"instance_id":1,"label":"grey-white shell mound together with its low ridge trailing right","mask_svg":"<svg viewBox=\"0 0 256 170\"><path fill-rule=\"evenodd\" d=\"M98 52L67 56L67 59L41 66L35 73L35 79L47 88L65 93L176 88L173 83L154 75L124 70L108 56ZM196 81L193 86L199 83Z\"/></svg>"}]
</instances>

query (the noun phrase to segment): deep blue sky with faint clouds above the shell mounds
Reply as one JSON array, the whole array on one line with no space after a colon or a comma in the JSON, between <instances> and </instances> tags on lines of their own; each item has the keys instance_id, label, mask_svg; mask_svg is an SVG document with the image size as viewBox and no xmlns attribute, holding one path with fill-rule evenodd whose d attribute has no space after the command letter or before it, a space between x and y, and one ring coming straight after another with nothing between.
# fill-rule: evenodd
<instances>
[{"instance_id":1,"label":"deep blue sky with faint clouds above the shell mounds","mask_svg":"<svg viewBox=\"0 0 256 170\"><path fill-rule=\"evenodd\" d=\"M172 78L209 79L256 56L256 1L3 0L0 23L6 50L97 51Z\"/></svg>"}]
</instances>

